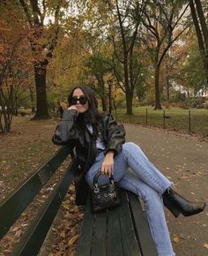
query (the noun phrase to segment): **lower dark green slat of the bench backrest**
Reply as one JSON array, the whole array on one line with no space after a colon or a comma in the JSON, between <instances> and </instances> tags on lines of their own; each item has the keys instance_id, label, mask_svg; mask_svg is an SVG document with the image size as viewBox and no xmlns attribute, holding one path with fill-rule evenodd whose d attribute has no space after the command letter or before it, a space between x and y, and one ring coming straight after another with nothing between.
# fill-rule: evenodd
<instances>
[{"instance_id":1,"label":"lower dark green slat of the bench backrest","mask_svg":"<svg viewBox=\"0 0 208 256\"><path fill-rule=\"evenodd\" d=\"M37 215L19 243L14 247L11 256L35 256L38 254L77 168L77 159L73 159L70 166L66 169L63 178L56 184L54 191L51 192L48 200L41 207L39 215Z\"/></svg>"}]
</instances>

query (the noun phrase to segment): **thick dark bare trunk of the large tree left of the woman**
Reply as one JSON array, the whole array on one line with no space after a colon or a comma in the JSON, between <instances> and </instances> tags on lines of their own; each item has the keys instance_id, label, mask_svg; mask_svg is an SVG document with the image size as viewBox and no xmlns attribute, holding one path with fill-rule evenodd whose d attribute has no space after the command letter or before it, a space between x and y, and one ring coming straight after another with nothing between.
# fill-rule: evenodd
<instances>
[{"instance_id":1,"label":"thick dark bare trunk of the large tree left of the woman","mask_svg":"<svg viewBox=\"0 0 208 256\"><path fill-rule=\"evenodd\" d=\"M46 93L46 62L34 64L34 79L36 87L36 113L33 120L49 119Z\"/></svg>"}]
</instances>

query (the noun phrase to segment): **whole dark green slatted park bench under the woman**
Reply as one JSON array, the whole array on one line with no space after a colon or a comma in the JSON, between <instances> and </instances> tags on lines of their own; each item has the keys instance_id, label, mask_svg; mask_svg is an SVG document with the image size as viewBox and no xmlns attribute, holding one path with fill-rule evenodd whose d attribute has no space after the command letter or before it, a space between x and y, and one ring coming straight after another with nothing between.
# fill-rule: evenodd
<instances>
[{"instance_id":1,"label":"whole dark green slatted park bench under the woman","mask_svg":"<svg viewBox=\"0 0 208 256\"><path fill-rule=\"evenodd\" d=\"M70 147L61 147L48 162L36 170L1 203L0 239L19 219L68 155L71 155L71 163L47 200L44 201L41 210L29 223L19 242L14 245L11 256L33 256L39 253L78 169L76 155ZM126 191L122 191L122 200L121 207L93 215L88 198L78 239L77 256L158 255L140 200Z\"/></svg>"}]
</instances>

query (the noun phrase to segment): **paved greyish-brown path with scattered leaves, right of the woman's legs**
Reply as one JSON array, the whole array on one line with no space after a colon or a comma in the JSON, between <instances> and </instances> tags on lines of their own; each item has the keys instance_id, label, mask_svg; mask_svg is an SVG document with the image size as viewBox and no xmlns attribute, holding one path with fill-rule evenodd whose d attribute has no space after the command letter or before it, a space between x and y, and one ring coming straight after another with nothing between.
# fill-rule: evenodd
<instances>
[{"instance_id":1,"label":"paved greyish-brown path with scattered leaves, right of the woman's legs","mask_svg":"<svg viewBox=\"0 0 208 256\"><path fill-rule=\"evenodd\" d=\"M134 141L189 200L208 204L208 142L134 124L124 124L127 141ZM200 215L179 216L167 210L167 224L176 256L208 255L208 207Z\"/></svg>"}]
</instances>

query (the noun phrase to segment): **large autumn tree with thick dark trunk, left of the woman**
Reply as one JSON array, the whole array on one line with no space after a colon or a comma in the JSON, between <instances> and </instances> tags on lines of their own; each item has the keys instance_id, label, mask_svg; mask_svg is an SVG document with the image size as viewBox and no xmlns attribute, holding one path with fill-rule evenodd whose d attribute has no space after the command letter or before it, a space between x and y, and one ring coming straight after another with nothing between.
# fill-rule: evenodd
<instances>
[{"instance_id":1,"label":"large autumn tree with thick dark trunk, left of the woman","mask_svg":"<svg viewBox=\"0 0 208 256\"><path fill-rule=\"evenodd\" d=\"M20 6L25 13L26 24L28 25L28 39L33 53L33 69L36 87L36 113L33 119L47 119L48 103L46 74L49 59L53 56L56 48L56 41L59 34L59 20L61 18L61 7L65 1L56 3L37 0L19 0ZM63 4L63 5L61 5ZM47 14L54 17L55 21L44 25Z\"/></svg>"}]
</instances>

